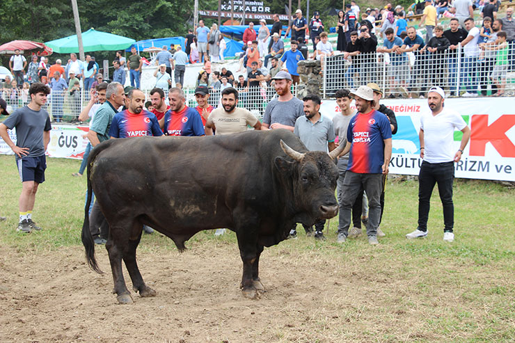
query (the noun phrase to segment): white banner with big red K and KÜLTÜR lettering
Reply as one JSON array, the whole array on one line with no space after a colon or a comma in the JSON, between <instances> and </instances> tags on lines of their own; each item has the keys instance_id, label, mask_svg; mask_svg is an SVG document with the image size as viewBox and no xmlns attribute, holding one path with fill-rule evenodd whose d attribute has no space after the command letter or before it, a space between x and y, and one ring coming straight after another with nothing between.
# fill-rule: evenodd
<instances>
[{"instance_id":1,"label":"white banner with big red K and K\u00dcLT\u00dcR lettering","mask_svg":"<svg viewBox=\"0 0 515 343\"><path fill-rule=\"evenodd\" d=\"M398 125L390 173L418 175L422 163L418 131L420 115L429 111L427 99L384 99L381 104L395 112ZM456 177L515 181L514 99L446 99L445 106L458 111L471 130L461 161L455 163ZM340 109L335 100L325 100L320 112L333 118ZM461 132L454 132L456 150L460 141Z\"/></svg>"}]
</instances>

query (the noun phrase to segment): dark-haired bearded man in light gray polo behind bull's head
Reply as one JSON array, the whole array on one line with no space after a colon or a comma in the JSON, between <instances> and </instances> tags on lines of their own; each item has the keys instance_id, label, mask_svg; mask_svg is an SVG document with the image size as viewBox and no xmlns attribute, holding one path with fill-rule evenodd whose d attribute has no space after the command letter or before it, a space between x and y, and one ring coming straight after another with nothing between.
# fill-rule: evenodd
<instances>
[{"instance_id":1,"label":"dark-haired bearded man in light gray polo behind bull's head","mask_svg":"<svg viewBox=\"0 0 515 343\"><path fill-rule=\"evenodd\" d=\"M293 133L299 137L302 143L310 151L329 152L335 149L335 131L333 122L320 114L320 98L318 95L304 97L304 115L297 118ZM315 239L325 241L324 225L326 220L322 219L315 223ZM303 225L304 230L312 231L312 228Z\"/></svg>"}]
</instances>

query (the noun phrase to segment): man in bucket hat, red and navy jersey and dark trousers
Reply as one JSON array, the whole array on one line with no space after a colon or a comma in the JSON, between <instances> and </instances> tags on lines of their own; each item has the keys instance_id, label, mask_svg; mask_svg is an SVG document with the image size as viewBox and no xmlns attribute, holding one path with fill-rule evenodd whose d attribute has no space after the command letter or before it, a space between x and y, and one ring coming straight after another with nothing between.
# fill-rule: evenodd
<instances>
[{"instance_id":1,"label":"man in bucket hat, red and navy jersey and dark trousers","mask_svg":"<svg viewBox=\"0 0 515 343\"><path fill-rule=\"evenodd\" d=\"M370 244L379 244L377 228L381 216L381 191L383 175L388 174L392 157L392 129L384 113L374 110L374 91L361 86L351 93L356 99L358 114L349 122L347 145L340 156L349 152L349 163L343 181L343 198L340 204L338 243L344 243L349 234L351 208L361 187L368 197L367 236Z\"/></svg>"}]
</instances>

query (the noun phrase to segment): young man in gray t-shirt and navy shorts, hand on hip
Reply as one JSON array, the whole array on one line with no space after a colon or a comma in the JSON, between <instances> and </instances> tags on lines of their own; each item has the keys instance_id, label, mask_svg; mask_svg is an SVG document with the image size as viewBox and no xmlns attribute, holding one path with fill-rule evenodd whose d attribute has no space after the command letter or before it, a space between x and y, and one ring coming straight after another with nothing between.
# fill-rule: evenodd
<instances>
[{"instance_id":1,"label":"young man in gray t-shirt and navy shorts, hand on hip","mask_svg":"<svg viewBox=\"0 0 515 343\"><path fill-rule=\"evenodd\" d=\"M3 123L0 123L0 137L16 155L19 177L22 179L22 193L19 196L18 232L29 233L41 230L32 221L32 209L38 186L45 181L47 160L45 151L50 141L50 118L41 108L47 102L50 89L43 83L33 83L29 88L31 102L17 109ZM16 144L10 139L7 129L16 129Z\"/></svg>"}]
</instances>

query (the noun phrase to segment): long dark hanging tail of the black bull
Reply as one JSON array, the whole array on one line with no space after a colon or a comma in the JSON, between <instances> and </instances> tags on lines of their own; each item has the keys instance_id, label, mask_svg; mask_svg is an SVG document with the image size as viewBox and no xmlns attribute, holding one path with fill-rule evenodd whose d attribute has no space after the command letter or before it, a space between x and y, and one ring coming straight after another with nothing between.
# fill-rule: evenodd
<instances>
[{"instance_id":1,"label":"long dark hanging tail of the black bull","mask_svg":"<svg viewBox=\"0 0 515 343\"><path fill-rule=\"evenodd\" d=\"M86 174L88 178L88 199L86 199L86 207L84 208L84 223L82 224L81 232L82 244L84 245L84 250L86 250L86 260L88 261L88 265L93 269L93 271L100 274L104 272L100 270L97 260L95 259L95 242L93 241L93 236L89 229L89 207L91 205L91 199L93 198L93 189L91 187L91 168L97 155L100 154L102 150L105 150L106 147L109 147L108 143L97 145L95 149L91 150L88 157L88 169Z\"/></svg>"}]
</instances>

